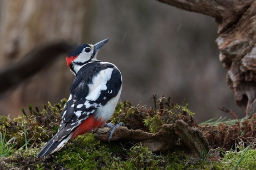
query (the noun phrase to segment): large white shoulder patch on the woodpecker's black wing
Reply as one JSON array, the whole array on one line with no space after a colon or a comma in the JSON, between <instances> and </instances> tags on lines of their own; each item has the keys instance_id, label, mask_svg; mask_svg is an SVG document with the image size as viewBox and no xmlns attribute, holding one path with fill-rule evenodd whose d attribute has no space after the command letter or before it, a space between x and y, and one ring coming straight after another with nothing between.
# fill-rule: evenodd
<instances>
[{"instance_id":1,"label":"large white shoulder patch on the woodpecker's black wing","mask_svg":"<svg viewBox=\"0 0 256 170\"><path fill-rule=\"evenodd\" d=\"M107 89L106 83L110 80L112 71L114 68L107 68L99 72L97 76L92 78L92 83L88 84L89 93L86 97L89 101L96 101L96 99L100 96L101 91Z\"/></svg>"}]
</instances>

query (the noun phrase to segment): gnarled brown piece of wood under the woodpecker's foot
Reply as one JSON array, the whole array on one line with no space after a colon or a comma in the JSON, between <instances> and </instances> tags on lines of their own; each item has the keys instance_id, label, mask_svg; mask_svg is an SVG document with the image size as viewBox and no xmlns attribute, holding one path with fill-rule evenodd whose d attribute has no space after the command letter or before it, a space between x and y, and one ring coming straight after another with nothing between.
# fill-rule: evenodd
<instances>
[{"instance_id":1,"label":"gnarled brown piece of wood under the woodpecker's foot","mask_svg":"<svg viewBox=\"0 0 256 170\"><path fill-rule=\"evenodd\" d=\"M109 128L100 128L95 137L101 141L108 141ZM187 123L178 120L173 124L164 124L157 133L119 127L114 132L111 141L141 142L152 152L183 151L191 157L199 157L203 152L208 153L210 146L201 131L196 127L189 127Z\"/></svg>"}]
</instances>

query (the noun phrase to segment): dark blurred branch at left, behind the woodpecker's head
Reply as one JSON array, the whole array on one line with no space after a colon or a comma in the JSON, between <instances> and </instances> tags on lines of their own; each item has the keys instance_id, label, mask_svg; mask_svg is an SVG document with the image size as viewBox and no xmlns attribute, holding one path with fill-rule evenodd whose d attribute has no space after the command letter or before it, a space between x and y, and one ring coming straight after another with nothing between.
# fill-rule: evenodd
<instances>
[{"instance_id":1,"label":"dark blurred branch at left, behind the woodpecker's head","mask_svg":"<svg viewBox=\"0 0 256 170\"><path fill-rule=\"evenodd\" d=\"M32 49L22 60L0 68L0 92L15 86L24 79L40 71L52 63L61 53L69 51L73 46L64 41L51 42Z\"/></svg>"}]
</instances>

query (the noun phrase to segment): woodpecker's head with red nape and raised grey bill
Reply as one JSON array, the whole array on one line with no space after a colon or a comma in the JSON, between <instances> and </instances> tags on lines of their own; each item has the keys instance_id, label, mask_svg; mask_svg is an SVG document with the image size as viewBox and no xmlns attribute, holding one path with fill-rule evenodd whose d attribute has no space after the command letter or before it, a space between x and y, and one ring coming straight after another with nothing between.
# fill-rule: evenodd
<instances>
[{"instance_id":1,"label":"woodpecker's head with red nape and raised grey bill","mask_svg":"<svg viewBox=\"0 0 256 170\"><path fill-rule=\"evenodd\" d=\"M76 46L70 53L67 54L66 62L73 74L77 72L90 61L97 60L97 53L104 44L109 41L109 38L104 39L96 44L80 44Z\"/></svg>"}]
</instances>

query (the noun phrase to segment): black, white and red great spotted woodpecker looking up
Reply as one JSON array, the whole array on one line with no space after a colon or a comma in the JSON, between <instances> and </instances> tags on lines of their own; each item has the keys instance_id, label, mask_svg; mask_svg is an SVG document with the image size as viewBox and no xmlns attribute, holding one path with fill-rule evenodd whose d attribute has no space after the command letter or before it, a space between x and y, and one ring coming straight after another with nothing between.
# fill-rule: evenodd
<instances>
[{"instance_id":1,"label":"black, white and red great spotted woodpecker looking up","mask_svg":"<svg viewBox=\"0 0 256 170\"><path fill-rule=\"evenodd\" d=\"M122 90L122 76L114 64L96 58L107 41L80 44L68 53L66 62L75 74L71 94L61 113L58 132L37 157L60 150L69 139L103 126L112 117Z\"/></svg>"}]
</instances>

